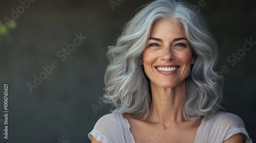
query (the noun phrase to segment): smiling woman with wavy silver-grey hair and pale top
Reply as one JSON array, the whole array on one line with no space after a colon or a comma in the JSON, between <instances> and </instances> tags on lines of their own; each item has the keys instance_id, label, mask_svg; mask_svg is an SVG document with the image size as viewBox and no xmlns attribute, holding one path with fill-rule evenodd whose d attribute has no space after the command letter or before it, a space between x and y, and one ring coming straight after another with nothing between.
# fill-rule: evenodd
<instances>
[{"instance_id":1,"label":"smiling woman with wavy silver-grey hair and pale top","mask_svg":"<svg viewBox=\"0 0 256 143\"><path fill-rule=\"evenodd\" d=\"M115 110L96 123L92 142L252 142L220 105L218 47L193 5L146 5L107 56L104 98Z\"/></svg>"}]
</instances>

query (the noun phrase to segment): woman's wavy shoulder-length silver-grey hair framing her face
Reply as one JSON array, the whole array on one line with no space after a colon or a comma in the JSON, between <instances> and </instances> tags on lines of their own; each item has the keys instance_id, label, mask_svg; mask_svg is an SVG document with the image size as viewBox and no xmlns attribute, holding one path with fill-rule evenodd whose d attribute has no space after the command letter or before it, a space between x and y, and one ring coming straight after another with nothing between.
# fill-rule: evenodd
<instances>
[{"instance_id":1,"label":"woman's wavy shoulder-length silver-grey hair framing her face","mask_svg":"<svg viewBox=\"0 0 256 143\"><path fill-rule=\"evenodd\" d=\"M151 104L150 82L140 65L153 24L172 18L183 25L195 63L186 78L185 120L209 117L221 105L223 77L214 67L218 47L209 33L206 20L196 6L187 2L158 0L143 7L125 26L115 46L106 54L110 63L105 73L104 101L115 107L113 112L133 113L144 120Z\"/></svg>"}]
</instances>

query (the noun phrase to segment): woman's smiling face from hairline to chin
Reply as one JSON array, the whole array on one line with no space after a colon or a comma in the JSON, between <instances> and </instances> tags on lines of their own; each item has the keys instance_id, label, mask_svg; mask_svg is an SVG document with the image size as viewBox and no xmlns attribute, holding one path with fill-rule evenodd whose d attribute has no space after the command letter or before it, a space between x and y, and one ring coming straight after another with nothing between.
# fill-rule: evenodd
<instances>
[{"instance_id":1,"label":"woman's smiling face from hairline to chin","mask_svg":"<svg viewBox=\"0 0 256 143\"><path fill-rule=\"evenodd\" d=\"M151 86L173 88L185 82L193 62L181 23L172 19L157 21L141 61Z\"/></svg>"}]
</instances>

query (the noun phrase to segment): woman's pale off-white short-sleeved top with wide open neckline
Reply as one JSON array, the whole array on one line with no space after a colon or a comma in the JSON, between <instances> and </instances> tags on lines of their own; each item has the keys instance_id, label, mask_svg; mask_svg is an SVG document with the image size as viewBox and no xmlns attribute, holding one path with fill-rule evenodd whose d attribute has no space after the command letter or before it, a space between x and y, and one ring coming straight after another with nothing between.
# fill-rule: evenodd
<instances>
[{"instance_id":1,"label":"woman's pale off-white short-sleeved top with wide open neckline","mask_svg":"<svg viewBox=\"0 0 256 143\"><path fill-rule=\"evenodd\" d=\"M102 143L135 143L130 127L128 120L121 113L106 114L98 120L88 137L91 139L93 136ZM218 112L209 120L206 120L206 117L203 118L195 142L222 143L237 133L243 133L246 143L252 143L245 130L244 122L239 116Z\"/></svg>"}]
</instances>

